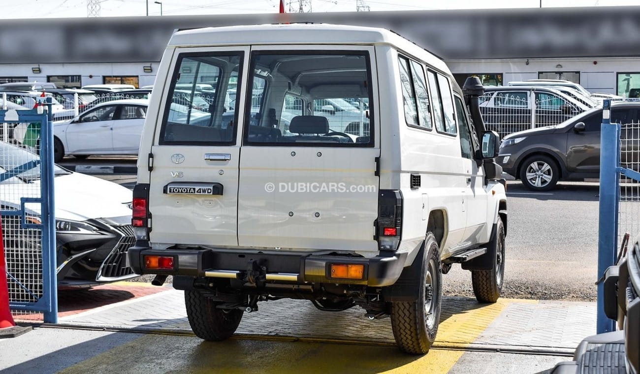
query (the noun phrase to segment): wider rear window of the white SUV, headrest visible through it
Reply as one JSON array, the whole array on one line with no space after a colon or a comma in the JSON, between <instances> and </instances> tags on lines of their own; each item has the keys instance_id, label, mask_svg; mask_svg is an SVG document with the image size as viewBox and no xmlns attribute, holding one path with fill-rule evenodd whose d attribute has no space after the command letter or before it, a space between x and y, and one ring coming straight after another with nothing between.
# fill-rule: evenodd
<instances>
[{"instance_id":1,"label":"wider rear window of the white SUV, headrest visible through it","mask_svg":"<svg viewBox=\"0 0 640 374\"><path fill-rule=\"evenodd\" d=\"M261 51L250 66L246 144L373 145L368 52Z\"/></svg>"}]
</instances>

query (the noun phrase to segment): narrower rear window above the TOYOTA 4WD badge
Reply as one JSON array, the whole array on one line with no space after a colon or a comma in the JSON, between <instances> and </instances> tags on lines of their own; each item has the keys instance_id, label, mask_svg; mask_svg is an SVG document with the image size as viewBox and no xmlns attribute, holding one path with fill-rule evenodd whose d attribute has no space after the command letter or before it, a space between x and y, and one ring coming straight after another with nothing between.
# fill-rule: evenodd
<instances>
[{"instance_id":1,"label":"narrower rear window above the TOYOTA 4WD badge","mask_svg":"<svg viewBox=\"0 0 640 374\"><path fill-rule=\"evenodd\" d=\"M233 144L242 52L179 56L164 108L160 144ZM233 96L233 98L232 98Z\"/></svg>"}]
</instances>

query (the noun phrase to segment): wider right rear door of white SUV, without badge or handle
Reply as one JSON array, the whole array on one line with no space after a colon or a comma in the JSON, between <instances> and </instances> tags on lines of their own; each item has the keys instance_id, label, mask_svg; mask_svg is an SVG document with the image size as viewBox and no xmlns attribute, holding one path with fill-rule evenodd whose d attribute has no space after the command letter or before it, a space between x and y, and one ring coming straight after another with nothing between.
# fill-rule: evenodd
<instances>
[{"instance_id":1,"label":"wider right rear door of white SUV, without badge or handle","mask_svg":"<svg viewBox=\"0 0 640 374\"><path fill-rule=\"evenodd\" d=\"M374 131L373 47L252 47L251 56L239 245L377 251L380 141ZM369 100L360 118L366 135L344 133L353 118L336 124L314 111L314 100L353 97Z\"/></svg>"}]
</instances>

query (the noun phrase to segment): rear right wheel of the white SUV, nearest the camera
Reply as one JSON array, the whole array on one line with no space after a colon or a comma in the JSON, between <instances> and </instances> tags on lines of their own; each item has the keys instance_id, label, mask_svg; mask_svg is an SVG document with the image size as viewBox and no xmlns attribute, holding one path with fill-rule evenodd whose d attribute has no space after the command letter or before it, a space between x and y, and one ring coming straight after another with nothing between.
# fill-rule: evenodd
<instances>
[{"instance_id":1,"label":"rear right wheel of the white SUV, nearest the camera","mask_svg":"<svg viewBox=\"0 0 640 374\"><path fill-rule=\"evenodd\" d=\"M442 269L440 250L433 233L427 234L423 253L420 284L424 286L420 287L416 300L391 303L391 327L394 338L398 347L408 354L429 352L440 323Z\"/></svg>"}]
</instances>

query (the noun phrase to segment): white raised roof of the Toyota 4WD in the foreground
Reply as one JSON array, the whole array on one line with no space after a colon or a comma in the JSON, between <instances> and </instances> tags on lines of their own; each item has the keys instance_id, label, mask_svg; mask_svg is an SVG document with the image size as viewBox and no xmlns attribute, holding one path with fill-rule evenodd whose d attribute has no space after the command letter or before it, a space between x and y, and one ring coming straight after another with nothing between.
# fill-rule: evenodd
<instances>
[{"instance_id":1,"label":"white raised roof of the Toyota 4WD in the foreground","mask_svg":"<svg viewBox=\"0 0 640 374\"><path fill-rule=\"evenodd\" d=\"M449 68L439 58L387 29L333 24L264 24L204 27L179 31L169 46L257 45L257 44L390 44L445 72ZM426 55L425 55L426 54Z\"/></svg>"}]
</instances>

